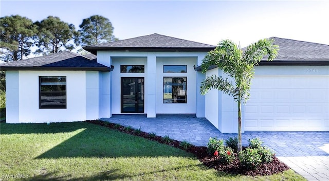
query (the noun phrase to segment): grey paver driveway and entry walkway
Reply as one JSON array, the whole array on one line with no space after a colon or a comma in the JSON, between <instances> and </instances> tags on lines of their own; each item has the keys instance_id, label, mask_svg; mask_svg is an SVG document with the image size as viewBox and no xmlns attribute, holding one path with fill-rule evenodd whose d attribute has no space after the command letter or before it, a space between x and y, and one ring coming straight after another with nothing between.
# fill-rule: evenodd
<instances>
[{"instance_id":1,"label":"grey paver driveway and entry walkway","mask_svg":"<svg viewBox=\"0 0 329 181\"><path fill-rule=\"evenodd\" d=\"M206 118L196 118L194 114L157 114L156 118L147 118L145 114L113 115L102 120L130 125L159 136L169 135L195 146L207 146L210 137L237 136L221 133ZM243 146L247 146L249 138L255 137L261 138L281 161L306 179L329 180L329 132L246 131L242 134Z\"/></svg>"}]
</instances>

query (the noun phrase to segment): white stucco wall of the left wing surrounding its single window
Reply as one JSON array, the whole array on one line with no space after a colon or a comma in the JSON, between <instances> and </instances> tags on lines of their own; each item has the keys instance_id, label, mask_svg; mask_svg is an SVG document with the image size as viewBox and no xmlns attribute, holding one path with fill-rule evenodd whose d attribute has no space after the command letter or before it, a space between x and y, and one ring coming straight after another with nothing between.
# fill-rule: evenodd
<instances>
[{"instance_id":1,"label":"white stucco wall of the left wing surrounding its single window","mask_svg":"<svg viewBox=\"0 0 329 181\"><path fill-rule=\"evenodd\" d=\"M7 112L8 123L23 122L71 122L97 119L98 87L93 82L97 72L86 71L7 71ZM39 108L39 76L66 76L67 108ZM18 77L18 79L17 79ZM19 85L18 94L14 92ZM88 88L87 88L88 87ZM19 108L16 100L19 98ZM96 102L95 100L96 99ZM86 107L91 108L88 113ZM98 112L97 112L98 113ZM88 115L88 116L86 116Z\"/></svg>"}]
</instances>

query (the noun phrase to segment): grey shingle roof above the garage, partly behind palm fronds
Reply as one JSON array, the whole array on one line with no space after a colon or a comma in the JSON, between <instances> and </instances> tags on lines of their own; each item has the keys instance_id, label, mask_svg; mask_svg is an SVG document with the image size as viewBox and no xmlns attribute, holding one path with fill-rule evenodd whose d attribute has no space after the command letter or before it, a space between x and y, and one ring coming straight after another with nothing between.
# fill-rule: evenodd
<instances>
[{"instance_id":1,"label":"grey shingle roof above the garage, partly behind palm fronds","mask_svg":"<svg viewBox=\"0 0 329 181\"><path fill-rule=\"evenodd\" d=\"M304 42L291 39L271 37L275 45L279 45L278 56L272 62L266 62L266 57L260 64L327 64L329 65L329 45Z\"/></svg>"}]
</instances>

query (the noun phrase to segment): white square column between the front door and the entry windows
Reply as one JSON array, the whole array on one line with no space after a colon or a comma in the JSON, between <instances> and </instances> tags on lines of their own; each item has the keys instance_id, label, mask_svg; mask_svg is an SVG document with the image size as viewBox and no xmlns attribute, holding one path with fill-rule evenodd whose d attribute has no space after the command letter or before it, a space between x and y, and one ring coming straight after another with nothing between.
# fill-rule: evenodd
<instances>
[{"instance_id":1,"label":"white square column between the front door and the entry windows","mask_svg":"<svg viewBox=\"0 0 329 181\"><path fill-rule=\"evenodd\" d=\"M156 53L148 53L148 70L147 70L147 117L156 117Z\"/></svg>"}]
</instances>

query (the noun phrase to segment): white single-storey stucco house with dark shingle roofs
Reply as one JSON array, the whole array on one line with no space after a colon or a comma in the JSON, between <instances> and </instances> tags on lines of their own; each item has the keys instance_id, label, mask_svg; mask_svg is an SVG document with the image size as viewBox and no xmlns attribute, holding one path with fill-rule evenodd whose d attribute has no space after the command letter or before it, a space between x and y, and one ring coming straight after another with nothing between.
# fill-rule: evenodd
<instances>
[{"instance_id":1,"label":"white single-storey stucco house with dark shingle roofs","mask_svg":"<svg viewBox=\"0 0 329 181\"><path fill-rule=\"evenodd\" d=\"M273 38L279 55L255 67L243 131L329 131L329 45ZM112 114L195 114L223 133L237 131L236 103L217 90L199 94L215 46L160 34L83 47L1 65L6 122L71 122ZM152 119L150 119L152 121Z\"/></svg>"}]
</instances>

